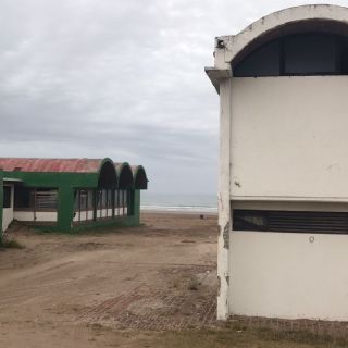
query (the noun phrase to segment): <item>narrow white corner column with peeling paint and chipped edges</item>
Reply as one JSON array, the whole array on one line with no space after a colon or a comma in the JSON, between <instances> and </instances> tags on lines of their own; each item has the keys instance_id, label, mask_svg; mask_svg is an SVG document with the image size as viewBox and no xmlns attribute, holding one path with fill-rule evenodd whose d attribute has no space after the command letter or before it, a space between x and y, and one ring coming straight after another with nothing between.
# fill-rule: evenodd
<instances>
[{"instance_id":1,"label":"narrow white corner column with peeling paint and chipped edges","mask_svg":"<svg viewBox=\"0 0 348 348\"><path fill-rule=\"evenodd\" d=\"M220 83L220 176L217 239L217 319L229 313L229 232L231 232L231 78Z\"/></svg>"}]
</instances>

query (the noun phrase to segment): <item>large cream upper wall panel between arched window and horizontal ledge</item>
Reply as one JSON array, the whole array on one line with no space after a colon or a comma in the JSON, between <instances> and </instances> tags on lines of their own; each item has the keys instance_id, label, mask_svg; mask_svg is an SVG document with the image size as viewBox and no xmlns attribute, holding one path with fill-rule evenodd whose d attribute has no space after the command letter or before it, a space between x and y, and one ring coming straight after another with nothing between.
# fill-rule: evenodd
<instances>
[{"instance_id":1,"label":"large cream upper wall panel between arched window and horizontal ledge","mask_svg":"<svg viewBox=\"0 0 348 348\"><path fill-rule=\"evenodd\" d=\"M233 78L232 198L348 201L348 76Z\"/></svg>"}]
</instances>

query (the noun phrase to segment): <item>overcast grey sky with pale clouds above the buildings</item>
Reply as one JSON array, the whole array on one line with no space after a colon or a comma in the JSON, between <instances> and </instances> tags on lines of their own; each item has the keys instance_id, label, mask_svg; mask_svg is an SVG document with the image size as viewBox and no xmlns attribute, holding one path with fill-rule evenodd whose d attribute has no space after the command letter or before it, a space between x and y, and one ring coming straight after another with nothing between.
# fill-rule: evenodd
<instances>
[{"instance_id":1,"label":"overcast grey sky with pale clouds above the buildings","mask_svg":"<svg viewBox=\"0 0 348 348\"><path fill-rule=\"evenodd\" d=\"M0 156L110 157L154 192L215 192L214 37L303 3L1 0Z\"/></svg>"}]
</instances>

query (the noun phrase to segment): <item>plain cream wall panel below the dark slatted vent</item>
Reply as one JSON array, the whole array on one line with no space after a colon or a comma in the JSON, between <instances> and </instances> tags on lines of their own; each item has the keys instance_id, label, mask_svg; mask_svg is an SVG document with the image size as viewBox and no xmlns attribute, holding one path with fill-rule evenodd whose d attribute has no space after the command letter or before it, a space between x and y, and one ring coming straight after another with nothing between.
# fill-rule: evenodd
<instances>
[{"instance_id":1,"label":"plain cream wall panel below the dark slatted vent","mask_svg":"<svg viewBox=\"0 0 348 348\"><path fill-rule=\"evenodd\" d=\"M347 249L341 235L232 232L231 313L347 321Z\"/></svg>"}]
</instances>

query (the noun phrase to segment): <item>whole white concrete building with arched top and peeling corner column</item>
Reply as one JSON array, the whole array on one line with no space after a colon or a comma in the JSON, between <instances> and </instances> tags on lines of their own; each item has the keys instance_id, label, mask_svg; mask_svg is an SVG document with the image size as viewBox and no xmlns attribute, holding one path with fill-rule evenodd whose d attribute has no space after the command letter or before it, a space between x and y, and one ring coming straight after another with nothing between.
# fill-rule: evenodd
<instances>
[{"instance_id":1,"label":"whole white concrete building with arched top and peeling corner column","mask_svg":"<svg viewBox=\"0 0 348 348\"><path fill-rule=\"evenodd\" d=\"M217 316L348 320L348 9L215 40Z\"/></svg>"}]
</instances>

